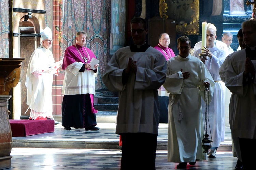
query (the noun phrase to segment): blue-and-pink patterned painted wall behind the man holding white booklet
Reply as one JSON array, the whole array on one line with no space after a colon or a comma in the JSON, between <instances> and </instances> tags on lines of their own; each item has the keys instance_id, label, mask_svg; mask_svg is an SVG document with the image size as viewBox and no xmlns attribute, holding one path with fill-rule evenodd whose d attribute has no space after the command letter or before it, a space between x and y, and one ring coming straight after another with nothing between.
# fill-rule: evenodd
<instances>
[{"instance_id":1,"label":"blue-and-pink patterned painted wall behind the man holding white booklet","mask_svg":"<svg viewBox=\"0 0 256 170\"><path fill-rule=\"evenodd\" d=\"M108 61L110 49L110 0L65 0L63 15L62 51L75 44L78 31L87 32L86 47L100 60L96 89L105 88L101 77Z\"/></svg>"}]
</instances>

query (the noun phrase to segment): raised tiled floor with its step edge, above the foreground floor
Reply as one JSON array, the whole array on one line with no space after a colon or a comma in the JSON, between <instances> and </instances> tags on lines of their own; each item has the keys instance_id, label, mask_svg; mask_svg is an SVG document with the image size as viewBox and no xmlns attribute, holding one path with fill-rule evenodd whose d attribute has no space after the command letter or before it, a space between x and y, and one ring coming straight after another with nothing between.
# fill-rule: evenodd
<instances>
[{"instance_id":1,"label":"raised tiled floor with its step edge, above the foreground floor","mask_svg":"<svg viewBox=\"0 0 256 170\"><path fill-rule=\"evenodd\" d=\"M13 137L13 147L33 148L73 148L73 149L120 149L119 135L115 133L115 123L98 123L98 131L84 129L65 130L61 124L55 125L55 131L26 137ZM168 124L160 123L157 137L157 149L167 150ZM226 127L225 141L218 151L232 151L230 128Z\"/></svg>"}]
</instances>

